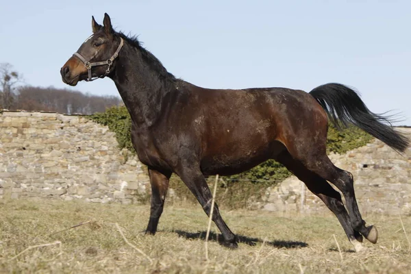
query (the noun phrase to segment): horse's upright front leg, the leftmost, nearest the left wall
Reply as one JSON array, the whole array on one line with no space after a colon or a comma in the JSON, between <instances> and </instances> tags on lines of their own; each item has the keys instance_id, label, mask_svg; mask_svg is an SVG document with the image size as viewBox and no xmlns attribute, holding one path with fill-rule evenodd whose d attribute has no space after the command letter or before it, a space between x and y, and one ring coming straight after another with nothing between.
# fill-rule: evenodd
<instances>
[{"instance_id":1,"label":"horse's upright front leg, the leftmost, nearest the left wall","mask_svg":"<svg viewBox=\"0 0 411 274\"><path fill-rule=\"evenodd\" d=\"M154 235L164 208L164 200L166 199L167 189L169 189L171 172L160 172L149 168L149 176L151 184L151 210L146 234Z\"/></svg>"}]
</instances>

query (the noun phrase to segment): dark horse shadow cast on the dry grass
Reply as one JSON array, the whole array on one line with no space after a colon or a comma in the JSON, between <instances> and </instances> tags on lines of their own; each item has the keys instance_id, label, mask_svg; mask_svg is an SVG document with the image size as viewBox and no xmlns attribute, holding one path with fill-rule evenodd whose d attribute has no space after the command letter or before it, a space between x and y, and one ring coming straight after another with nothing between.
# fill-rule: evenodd
<instances>
[{"instance_id":1,"label":"dark horse shadow cast on the dry grass","mask_svg":"<svg viewBox=\"0 0 411 274\"><path fill-rule=\"evenodd\" d=\"M173 232L177 233L178 236L186 238L186 239L201 239L201 240L206 240L206 234L207 234L207 232L205 231L192 233L192 232L185 232L182 230L174 230ZM242 242L251 247L256 245L257 242L264 242L264 240L259 239L259 238L250 238L250 237L242 236L242 235L236 235L236 236L238 238L238 242ZM216 234L214 232L210 232L210 236L208 239L215 241L215 242L219 242L219 243L223 242L223 236L221 234ZM298 241L290 241L290 240L273 240L271 242L266 241L264 245L271 245L272 247L286 248L286 249L308 247L308 244L306 242L298 242Z\"/></svg>"}]
</instances>

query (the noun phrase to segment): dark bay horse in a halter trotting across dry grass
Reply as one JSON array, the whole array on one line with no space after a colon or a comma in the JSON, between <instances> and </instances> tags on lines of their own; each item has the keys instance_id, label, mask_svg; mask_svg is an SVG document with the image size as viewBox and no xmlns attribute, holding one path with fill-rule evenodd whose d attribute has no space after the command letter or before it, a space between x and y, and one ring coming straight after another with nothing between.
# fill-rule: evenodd
<instances>
[{"instance_id":1,"label":"dark bay horse in a halter trotting across dry grass","mask_svg":"<svg viewBox=\"0 0 411 274\"><path fill-rule=\"evenodd\" d=\"M205 175L232 175L274 159L303 181L334 212L356 251L363 236L377 242L377 229L366 226L353 188L353 176L338 169L326 154L328 121L356 125L397 151L409 140L388 119L371 112L357 93L341 84L311 92L289 88L213 90L166 71L161 62L112 28L92 18L92 36L62 66L64 83L110 77L132 117L132 142L149 169L151 212L147 233L155 234L169 178L176 173L210 213L212 194ZM387 125L388 124L388 125ZM334 184L344 195L347 210ZM223 245L237 238L214 208Z\"/></svg>"}]
</instances>

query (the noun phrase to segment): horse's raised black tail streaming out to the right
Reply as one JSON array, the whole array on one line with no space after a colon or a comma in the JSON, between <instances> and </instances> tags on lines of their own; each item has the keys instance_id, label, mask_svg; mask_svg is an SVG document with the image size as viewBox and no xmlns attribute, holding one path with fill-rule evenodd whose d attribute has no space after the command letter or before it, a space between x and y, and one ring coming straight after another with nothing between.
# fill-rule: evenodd
<instances>
[{"instance_id":1,"label":"horse's raised black tail streaming out to the right","mask_svg":"<svg viewBox=\"0 0 411 274\"><path fill-rule=\"evenodd\" d=\"M403 152L410 145L406 136L393 129L388 117L371 112L351 88L342 84L325 84L314 88L310 95L320 103L336 127L347 127L351 123L396 151Z\"/></svg>"}]
</instances>

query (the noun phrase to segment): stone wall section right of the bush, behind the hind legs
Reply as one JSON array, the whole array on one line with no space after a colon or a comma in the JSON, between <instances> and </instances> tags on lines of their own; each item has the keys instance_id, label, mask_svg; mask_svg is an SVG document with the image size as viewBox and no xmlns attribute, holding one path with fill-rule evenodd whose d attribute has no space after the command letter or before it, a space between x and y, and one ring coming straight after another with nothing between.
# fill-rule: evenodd
<instances>
[{"instance_id":1,"label":"stone wall section right of the bush, behind the hind legs","mask_svg":"<svg viewBox=\"0 0 411 274\"><path fill-rule=\"evenodd\" d=\"M411 128L399 128L411 135ZM379 140L348 151L332 153L332 162L353 174L358 206L362 213L411 214L411 148L403 155ZM264 210L318 212L324 203L292 176L269 189Z\"/></svg>"}]
</instances>

